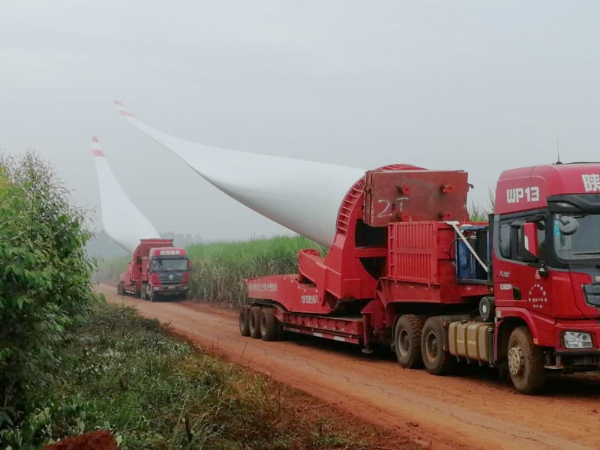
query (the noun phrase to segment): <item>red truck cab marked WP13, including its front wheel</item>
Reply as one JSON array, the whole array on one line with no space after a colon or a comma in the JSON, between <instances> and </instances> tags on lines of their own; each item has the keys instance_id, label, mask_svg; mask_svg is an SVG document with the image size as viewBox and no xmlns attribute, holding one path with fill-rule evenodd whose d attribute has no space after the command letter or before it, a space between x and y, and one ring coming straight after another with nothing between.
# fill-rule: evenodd
<instances>
[{"instance_id":1,"label":"red truck cab marked WP13, including its front wheel","mask_svg":"<svg viewBox=\"0 0 600 450\"><path fill-rule=\"evenodd\" d=\"M496 356L513 382L542 383L547 369L598 370L600 164L503 172L490 222ZM517 328L522 339L511 344Z\"/></svg>"}]
</instances>

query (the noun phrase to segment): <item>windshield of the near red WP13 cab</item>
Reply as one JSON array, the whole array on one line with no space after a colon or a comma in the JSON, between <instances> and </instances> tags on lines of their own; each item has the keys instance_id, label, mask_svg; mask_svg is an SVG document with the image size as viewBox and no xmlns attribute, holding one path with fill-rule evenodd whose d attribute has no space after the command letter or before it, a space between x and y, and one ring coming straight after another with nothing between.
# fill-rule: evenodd
<instances>
[{"instance_id":1,"label":"windshield of the near red WP13 cab","mask_svg":"<svg viewBox=\"0 0 600 450\"><path fill-rule=\"evenodd\" d=\"M600 259L600 214L555 214L553 233L560 259Z\"/></svg>"}]
</instances>

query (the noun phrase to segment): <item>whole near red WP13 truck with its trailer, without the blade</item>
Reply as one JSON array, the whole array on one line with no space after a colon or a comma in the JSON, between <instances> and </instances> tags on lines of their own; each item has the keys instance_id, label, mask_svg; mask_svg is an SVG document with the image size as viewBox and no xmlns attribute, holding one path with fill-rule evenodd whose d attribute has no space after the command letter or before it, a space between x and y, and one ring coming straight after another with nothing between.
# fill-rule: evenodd
<instances>
[{"instance_id":1,"label":"whole near red WP13 truck with its trailer, without the blade","mask_svg":"<svg viewBox=\"0 0 600 450\"><path fill-rule=\"evenodd\" d=\"M600 164L508 170L489 221L469 221L467 174L387 166L338 213L327 256L245 280L240 332L391 348L435 375L497 367L517 391L600 369Z\"/></svg>"}]
</instances>

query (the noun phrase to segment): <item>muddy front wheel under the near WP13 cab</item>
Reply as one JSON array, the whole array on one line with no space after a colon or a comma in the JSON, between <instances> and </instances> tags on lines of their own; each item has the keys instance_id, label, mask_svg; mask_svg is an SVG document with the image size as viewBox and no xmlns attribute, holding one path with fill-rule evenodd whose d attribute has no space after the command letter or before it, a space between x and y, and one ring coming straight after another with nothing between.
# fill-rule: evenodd
<instances>
[{"instance_id":1,"label":"muddy front wheel under the near WP13 cab","mask_svg":"<svg viewBox=\"0 0 600 450\"><path fill-rule=\"evenodd\" d=\"M546 384L546 371L541 349L533 343L526 326L515 328L508 338L508 372L521 394L539 393Z\"/></svg>"}]
</instances>

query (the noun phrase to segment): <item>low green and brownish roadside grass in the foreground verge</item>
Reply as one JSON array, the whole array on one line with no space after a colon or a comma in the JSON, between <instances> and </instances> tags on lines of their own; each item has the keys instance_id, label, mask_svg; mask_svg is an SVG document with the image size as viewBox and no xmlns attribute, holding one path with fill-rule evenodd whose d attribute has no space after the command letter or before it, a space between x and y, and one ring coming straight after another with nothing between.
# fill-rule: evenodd
<instances>
[{"instance_id":1,"label":"low green and brownish roadside grass in the foreground verge","mask_svg":"<svg viewBox=\"0 0 600 450\"><path fill-rule=\"evenodd\" d=\"M38 392L37 409L0 432L7 448L40 448L97 429L110 430L122 449L140 450L358 449L387 439L132 309L95 306L55 351L55 381Z\"/></svg>"}]
</instances>

